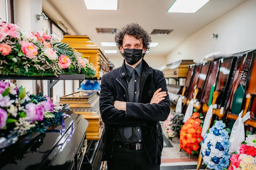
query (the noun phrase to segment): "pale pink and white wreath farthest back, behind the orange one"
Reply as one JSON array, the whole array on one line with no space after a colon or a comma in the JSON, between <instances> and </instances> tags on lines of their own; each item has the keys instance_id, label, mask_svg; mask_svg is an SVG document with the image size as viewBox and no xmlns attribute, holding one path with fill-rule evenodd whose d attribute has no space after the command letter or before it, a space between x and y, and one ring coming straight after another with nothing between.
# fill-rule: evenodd
<instances>
[{"instance_id":1,"label":"pale pink and white wreath farthest back, behind the orange one","mask_svg":"<svg viewBox=\"0 0 256 170\"><path fill-rule=\"evenodd\" d=\"M183 118L182 113L171 112L167 120L164 121L164 128L169 138L173 138L179 133Z\"/></svg>"}]
</instances>

